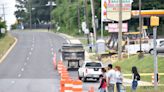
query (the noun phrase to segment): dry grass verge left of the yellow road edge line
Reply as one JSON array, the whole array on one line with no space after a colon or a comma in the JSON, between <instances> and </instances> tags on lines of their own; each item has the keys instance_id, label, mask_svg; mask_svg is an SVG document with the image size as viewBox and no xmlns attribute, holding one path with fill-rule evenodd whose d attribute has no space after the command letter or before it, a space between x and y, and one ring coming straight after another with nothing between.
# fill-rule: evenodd
<instances>
[{"instance_id":1,"label":"dry grass verge left of the yellow road edge line","mask_svg":"<svg viewBox=\"0 0 164 92\"><path fill-rule=\"evenodd\" d=\"M12 37L10 34L7 34L4 39L0 38L0 57L14 41L14 37Z\"/></svg>"}]
</instances>

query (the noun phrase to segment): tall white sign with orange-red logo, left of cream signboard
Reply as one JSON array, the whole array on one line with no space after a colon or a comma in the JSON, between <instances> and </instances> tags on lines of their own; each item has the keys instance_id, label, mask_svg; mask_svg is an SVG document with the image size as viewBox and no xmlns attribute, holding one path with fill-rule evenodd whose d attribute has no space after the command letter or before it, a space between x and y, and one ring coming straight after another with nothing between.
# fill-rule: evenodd
<instances>
[{"instance_id":1,"label":"tall white sign with orange-red logo, left of cream signboard","mask_svg":"<svg viewBox=\"0 0 164 92\"><path fill-rule=\"evenodd\" d=\"M101 21L110 22L111 20L107 19L107 0L101 0Z\"/></svg>"}]
</instances>

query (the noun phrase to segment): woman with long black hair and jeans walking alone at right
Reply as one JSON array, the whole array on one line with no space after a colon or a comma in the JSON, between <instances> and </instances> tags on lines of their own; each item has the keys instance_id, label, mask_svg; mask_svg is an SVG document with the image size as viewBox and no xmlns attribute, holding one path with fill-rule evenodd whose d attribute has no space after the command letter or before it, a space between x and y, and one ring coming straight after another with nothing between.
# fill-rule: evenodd
<instances>
[{"instance_id":1,"label":"woman with long black hair and jeans walking alone at right","mask_svg":"<svg viewBox=\"0 0 164 92\"><path fill-rule=\"evenodd\" d=\"M132 91L135 91L137 89L137 85L138 85L138 80L140 80L140 75L138 74L138 71L137 71L137 67L132 67Z\"/></svg>"}]
</instances>

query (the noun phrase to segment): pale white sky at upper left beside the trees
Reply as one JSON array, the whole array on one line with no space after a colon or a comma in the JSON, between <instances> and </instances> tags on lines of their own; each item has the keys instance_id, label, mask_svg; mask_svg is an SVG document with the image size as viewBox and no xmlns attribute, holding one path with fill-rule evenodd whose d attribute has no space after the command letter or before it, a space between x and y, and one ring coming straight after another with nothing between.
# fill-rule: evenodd
<instances>
[{"instance_id":1,"label":"pale white sky at upper left beside the trees","mask_svg":"<svg viewBox=\"0 0 164 92\"><path fill-rule=\"evenodd\" d=\"M3 14L3 6L5 7L5 20L7 21L7 29L10 29L10 25L14 24L16 21L16 17L14 16L14 11L16 11L15 8L15 0L0 0L0 16ZM2 20L4 20L4 17L2 17Z\"/></svg>"}]
</instances>

